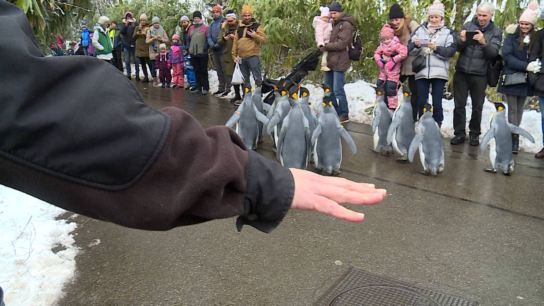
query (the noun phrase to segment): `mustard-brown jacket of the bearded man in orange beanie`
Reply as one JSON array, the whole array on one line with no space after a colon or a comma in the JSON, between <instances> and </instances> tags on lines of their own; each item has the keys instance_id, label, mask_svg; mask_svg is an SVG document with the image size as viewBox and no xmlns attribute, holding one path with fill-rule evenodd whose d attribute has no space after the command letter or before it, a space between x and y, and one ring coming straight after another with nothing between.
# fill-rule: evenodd
<instances>
[{"instance_id":1,"label":"mustard-brown jacket of the bearded man in orange beanie","mask_svg":"<svg viewBox=\"0 0 544 306\"><path fill-rule=\"evenodd\" d=\"M236 31L236 34L234 34L234 41L232 42L232 58L236 58L239 56L242 59L250 58L252 56L259 56L261 55L261 45L264 45L267 43L267 36L264 35L263 26L259 25L257 28L257 35L253 36L252 38L249 37L249 35L246 35L248 33L248 29L256 23L255 19L253 19L249 25L245 25L243 22L240 22L239 27L243 28L243 34L242 38L238 36L239 30Z\"/></svg>"}]
</instances>

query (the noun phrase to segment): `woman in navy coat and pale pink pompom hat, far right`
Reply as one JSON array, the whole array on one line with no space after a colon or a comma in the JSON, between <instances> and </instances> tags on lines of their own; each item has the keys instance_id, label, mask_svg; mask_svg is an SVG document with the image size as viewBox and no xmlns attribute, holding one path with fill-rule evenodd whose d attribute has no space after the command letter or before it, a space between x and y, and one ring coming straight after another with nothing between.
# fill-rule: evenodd
<instances>
[{"instance_id":1,"label":"woman in navy coat and pale pink pompom hat, far right","mask_svg":"<svg viewBox=\"0 0 544 306\"><path fill-rule=\"evenodd\" d=\"M506 27L506 38L503 43L504 68L500 73L498 92L504 94L508 103L508 121L519 126L523 117L523 107L527 96L533 96L533 87L527 83L527 71L537 73L540 64L536 60L529 62L531 47L536 38L535 24L538 4L530 3L520 16L519 25ZM514 76L519 76L514 78ZM520 149L520 135L512 133L512 152Z\"/></svg>"}]
</instances>

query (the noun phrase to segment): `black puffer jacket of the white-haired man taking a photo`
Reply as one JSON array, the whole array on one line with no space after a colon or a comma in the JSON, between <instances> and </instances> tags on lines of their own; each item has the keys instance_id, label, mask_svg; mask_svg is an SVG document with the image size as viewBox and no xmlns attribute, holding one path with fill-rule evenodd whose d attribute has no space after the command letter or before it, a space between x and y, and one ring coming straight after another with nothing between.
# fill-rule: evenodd
<instances>
[{"instance_id":1,"label":"black puffer jacket of the white-haired man taking a photo","mask_svg":"<svg viewBox=\"0 0 544 306\"><path fill-rule=\"evenodd\" d=\"M487 62L499 54L500 43L503 40L502 31L495 26L493 21L482 29L477 19L465 23L461 28L462 30L467 30L467 32L480 30L484 33L487 44L483 47L479 44L467 45L466 42L461 42L461 37L458 35L457 51L459 51L459 59L455 65L455 70L467 74L486 75Z\"/></svg>"}]
</instances>

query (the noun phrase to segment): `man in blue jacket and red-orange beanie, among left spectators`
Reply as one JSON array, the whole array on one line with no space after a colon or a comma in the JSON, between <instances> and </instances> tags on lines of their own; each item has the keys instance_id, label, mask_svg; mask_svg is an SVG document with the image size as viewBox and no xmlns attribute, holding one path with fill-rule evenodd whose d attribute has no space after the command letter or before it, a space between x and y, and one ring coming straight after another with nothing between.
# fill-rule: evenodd
<instances>
[{"instance_id":1,"label":"man in blue jacket and red-orange beanie, among left spectators","mask_svg":"<svg viewBox=\"0 0 544 306\"><path fill-rule=\"evenodd\" d=\"M217 71L217 78L219 79L219 88L217 91L215 91L215 93L213 93L214 96L226 96L231 91L231 84L227 84L225 79L225 57L223 55L223 47L218 43L221 25L223 21L225 21L221 14L221 7L219 5L215 5L212 8L213 21L209 26L207 37L208 45L212 48L213 66L215 71Z\"/></svg>"}]
</instances>

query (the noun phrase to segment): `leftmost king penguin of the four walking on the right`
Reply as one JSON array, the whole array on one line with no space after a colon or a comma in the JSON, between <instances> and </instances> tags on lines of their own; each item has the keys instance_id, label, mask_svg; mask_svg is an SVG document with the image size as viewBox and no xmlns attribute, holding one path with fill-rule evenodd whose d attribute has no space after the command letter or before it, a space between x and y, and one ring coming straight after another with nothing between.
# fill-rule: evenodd
<instances>
[{"instance_id":1,"label":"leftmost king penguin of the four walking on the right","mask_svg":"<svg viewBox=\"0 0 544 306\"><path fill-rule=\"evenodd\" d=\"M391 112L385 103L384 94L376 91L376 102L374 103L372 133L374 134L374 146L371 148L374 152L385 150L384 155L388 155L392 150L391 145L387 144L387 131L391 125Z\"/></svg>"}]
</instances>

